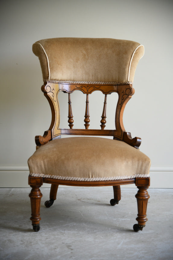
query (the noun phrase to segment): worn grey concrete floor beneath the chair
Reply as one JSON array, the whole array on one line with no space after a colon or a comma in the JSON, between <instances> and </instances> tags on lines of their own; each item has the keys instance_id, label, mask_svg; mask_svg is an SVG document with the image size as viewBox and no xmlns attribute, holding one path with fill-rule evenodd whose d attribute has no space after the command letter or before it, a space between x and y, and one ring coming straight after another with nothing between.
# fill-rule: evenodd
<instances>
[{"instance_id":1,"label":"worn grey concrete floor beneath the chair","mask_svg":"<svg viewBox=\"0 0 173 260\"><path fill-rule=\"evenodd\" d=\"M134 232L137 189L121 188L111 206L111 187L59 188L46 208L42 188L40 231L30 221L30 188L0 189L0 259L173 259L173 189L149 189L148 221Z\"/></svg>"}]
</instances>

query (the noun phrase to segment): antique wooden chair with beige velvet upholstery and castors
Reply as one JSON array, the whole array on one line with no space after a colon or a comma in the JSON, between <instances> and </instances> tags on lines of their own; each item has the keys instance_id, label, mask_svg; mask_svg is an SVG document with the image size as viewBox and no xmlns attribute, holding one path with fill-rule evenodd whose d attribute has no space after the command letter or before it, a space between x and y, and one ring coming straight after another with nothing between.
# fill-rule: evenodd
<instances>
[{"instance_id":1,"label":"antique wooden chair with beige velvet upholstery and castors","mask_svg":"<svg viewBox=\"0 0 173 260\"><path fill-rule=\"evenodd\" d=\"M40 229L39 188L43 182L51 184L46 207L55 201L58 185L113 186L114 198L110 201L113 206L121 200L120 185L135 183L138 223L133 229L142 230L147 221L150 159L138 149L141 139L132 138L125 131L123 111L134 94L132 82L144 54L143 45L106 38L52 38L34 43L33 53L39 57L44 82L41 89L52 111L49 130L35 137L36 151L28 160L33 230ZM77 90L86 94L83 129L74 128L71 95ZM68 93L68 129L59 128L60 91ZM103 93L101 129L89 128L89 96L93 91ZM113 92L118 93L115 129L107 130L107 95ZM61 138L61 135L73 137Z\"/></svg>"}]
</instances>

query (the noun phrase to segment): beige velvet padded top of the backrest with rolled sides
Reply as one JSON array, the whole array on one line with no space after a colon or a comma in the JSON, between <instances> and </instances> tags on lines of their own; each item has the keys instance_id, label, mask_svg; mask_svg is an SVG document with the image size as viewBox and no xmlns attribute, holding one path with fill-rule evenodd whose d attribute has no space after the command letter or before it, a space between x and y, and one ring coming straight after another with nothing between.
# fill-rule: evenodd
<instances>
[{"instance_id":1,"label":"beige velvet padded top of the backrest with rolled sides","mask_svg":"<svg viewBox=\"0 0 173 260\"><path fill-rule=\"evenodd\" d=\"M105 38L52 38L33 44L44 81L133 82L144 47Z\"/></svg>"}]
</instances>

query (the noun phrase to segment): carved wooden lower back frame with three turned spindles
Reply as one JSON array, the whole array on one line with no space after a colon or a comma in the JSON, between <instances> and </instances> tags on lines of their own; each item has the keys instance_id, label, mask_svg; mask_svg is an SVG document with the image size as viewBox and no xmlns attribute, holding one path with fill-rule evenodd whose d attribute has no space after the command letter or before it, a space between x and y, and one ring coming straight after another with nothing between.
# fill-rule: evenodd
<instances>
[{"instance_id":1,"label":"carved wooden lower back frame with three turned spindles","mask_svg":"<svg viewBox=\"0 0 173 260\"><path fill-rule=\"evenodd\" d=\"M71 105L71 96L70 94L74 90L80 90L86 94L86 109L85 109L85 119L84 126L85 129L72 129L74 126L73 114L72 114L72 105ZM101 130L89 129L90 115L89 115L89 95L93 91L102 91L105 94L102 119L101 119ZM99 84L67 84L67 83L52 83L45 82L45 85L42 85L42 91L49 101L51 111L52 111L52 122L49 127L49 130L45 131L43 136L36 136L35 141L37 146L41 146L52 139L60 137L62 134L65 135L91 135L91 136L113 136L114 139L122 140L131 146L138 148L141 143L139 137L132 138L131 133L125 132L123 125L123 112L125 105L134 94L134 88L131 84L127 85L99 85ZM69 129L59 128L60 123L60 113L59 113L59 103L58 103L58 93L63 91L68 93L68 123ZM118 102L115 112L115 130L105 130L106 123L106 101L107 94L113 92L118 93Z\"/></svg>"}]
</instances>

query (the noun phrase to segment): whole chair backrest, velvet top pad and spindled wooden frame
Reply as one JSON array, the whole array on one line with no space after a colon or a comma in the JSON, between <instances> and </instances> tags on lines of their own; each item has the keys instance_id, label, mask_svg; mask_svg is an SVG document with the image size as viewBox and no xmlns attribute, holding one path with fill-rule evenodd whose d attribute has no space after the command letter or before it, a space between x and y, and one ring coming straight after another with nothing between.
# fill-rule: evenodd
<instances>
[{"instance_id":1,"label":"whole chair backrest, velvet top pad and spindled wooden frame","mask_svg":"<svg viewBox=\"0 0 173 260\"><path fill-rule=\"evenodd\" d=\"M52 38L33 44L33 53L39 57L44 85L42 91L52 110L52 122L43 136L36 136L40 146L61 134L113 136L134 147L140 139L131 138L123 126L123 111L134 94L132 82L137 63L144 54L144 47L137 42L105 38ZM80 90L86 94L85 129L73 129L70 94ZM105 95L101 129L90 130L89 94L100 90ZM58 92L68 93L69 129L59 128ZM105 130L107 94L118 93L115 113L115 130Z\"/></svg>"}]
</instances>

